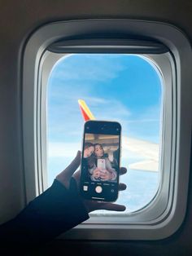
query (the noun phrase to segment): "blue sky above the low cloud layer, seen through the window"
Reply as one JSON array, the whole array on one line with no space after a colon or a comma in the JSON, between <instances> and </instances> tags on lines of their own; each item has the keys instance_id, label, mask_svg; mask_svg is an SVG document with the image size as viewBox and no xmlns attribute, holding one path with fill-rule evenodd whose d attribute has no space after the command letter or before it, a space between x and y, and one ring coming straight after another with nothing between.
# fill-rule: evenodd
<instances>
[{"instance_id":1,"label":"blue sky above the low cloud layer, seen through the window","mask_svg":"<svg viewBox=\"0 0 192 256\"><path fill-rule=\"evenodd\" d=\"M85 99L97 119L120 121L129 136L158 143L161 89L155 68L137 55L63 58L50 74L49 139L80 139L77 100Z\"/></svg>"}]
</instances>

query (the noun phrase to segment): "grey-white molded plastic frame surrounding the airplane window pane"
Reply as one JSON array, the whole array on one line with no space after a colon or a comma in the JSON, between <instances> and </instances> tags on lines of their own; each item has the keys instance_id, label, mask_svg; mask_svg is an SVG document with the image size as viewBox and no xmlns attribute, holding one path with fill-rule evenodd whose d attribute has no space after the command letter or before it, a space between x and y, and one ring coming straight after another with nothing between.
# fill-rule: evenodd
<instances>
[{"instance_id":1,"label":"grey-white molded plastic frame surrounding the airplane window pane","mask_svg":"<svg viewBox=\"0 0 192 256\"><path fill-rule=\"evenodd\" d=\"M166 86L161 163L164 177L155 201L145 209L126 216L116 214L107 218L92 217L63 237L157 240L171 236L181 226L186 210L192 123L190 114L192 55L190 43L185 35L170 24L143 20L71 20L47 24L33 33L24 49L23 68L24 170L27 200L31 201L46 188L45 85L48 74L42 77L41 70L45 68L43 64L46 63L50 65L46 67L46 71L49 72L51 65L54 64L53 61L44 62L46 58L50 58L50 54L45 54L46 48L61 38L67 40L97 33L110 35L121 33L129 37L152 38L167 46L172 55L172 57L170 54L164 54L162 57L150 55L151 60L161 68ZM124 47L120 41L113 42L118 49ZM104 44L103 48L105 48ZM85 51L86 49L88 47L85 47ZM165 177L167 174L170 176ZM167 179L168 184L165 182Z\"/></svg>"}]
</instances>

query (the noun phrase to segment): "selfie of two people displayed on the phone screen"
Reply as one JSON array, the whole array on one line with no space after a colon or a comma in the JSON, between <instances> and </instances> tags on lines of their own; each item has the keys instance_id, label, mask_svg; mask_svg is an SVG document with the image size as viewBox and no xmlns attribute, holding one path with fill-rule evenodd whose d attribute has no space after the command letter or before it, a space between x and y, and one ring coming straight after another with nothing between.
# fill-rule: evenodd
<instances>
[{"instance_id":1,"label":"selfie of two people displayed on the phone screen","mask_svg":"<svg viewBox=\"0 0 192 256\"><path fill-rule=\"evenodd\" d=\"M117 182L119 135L85 134L83 161L87 181Z\"/></svg>"}]
</instances>

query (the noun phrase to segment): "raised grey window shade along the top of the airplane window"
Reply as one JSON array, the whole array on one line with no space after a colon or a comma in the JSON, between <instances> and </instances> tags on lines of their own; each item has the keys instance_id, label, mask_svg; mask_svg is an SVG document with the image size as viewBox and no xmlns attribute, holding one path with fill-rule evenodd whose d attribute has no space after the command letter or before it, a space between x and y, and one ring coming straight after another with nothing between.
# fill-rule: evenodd
<instances>
[{"instance_id":1,"label":"raised grey window shade along the top of the airplane window","mask_svg":"<svg viewBox=\"0 0 192 256\"><path fill-rule=\"evenodd\" d=\"M168 52L164 44L153 41L116 38L92 38L54 42L47 51L55 53L124 53L163 54Z\"/></svg>"}]
</instances>

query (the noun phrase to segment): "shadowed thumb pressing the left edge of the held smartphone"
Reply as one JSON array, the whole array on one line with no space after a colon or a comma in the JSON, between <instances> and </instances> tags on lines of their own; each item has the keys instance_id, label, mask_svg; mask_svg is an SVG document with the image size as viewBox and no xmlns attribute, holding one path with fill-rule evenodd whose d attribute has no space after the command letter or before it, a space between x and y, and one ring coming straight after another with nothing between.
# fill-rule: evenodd
<instances>
[{"instance_id":1,"label":"shadowed thumb pressing the left edge of the held smartphone","mask_svg":"<svg viewBox=\"0 0 192 256\"><path fill-rule=\"evenodd\" d=\"M81 162L81 151L78 151L76 157L73 159L71 164L65 168L60 174L57 175L56 179L62 183L65 188L69 188L70 179L72 178L72 174L76 171L76 169L80 166Z\"/></svg>"}]
</instances>

